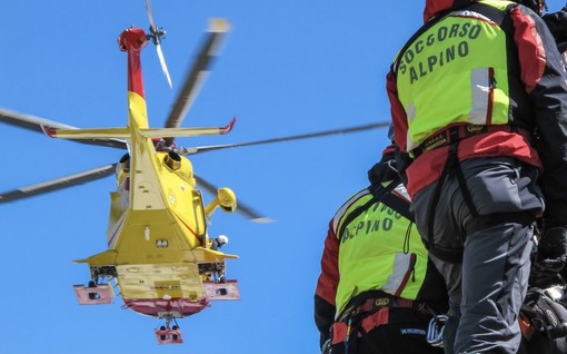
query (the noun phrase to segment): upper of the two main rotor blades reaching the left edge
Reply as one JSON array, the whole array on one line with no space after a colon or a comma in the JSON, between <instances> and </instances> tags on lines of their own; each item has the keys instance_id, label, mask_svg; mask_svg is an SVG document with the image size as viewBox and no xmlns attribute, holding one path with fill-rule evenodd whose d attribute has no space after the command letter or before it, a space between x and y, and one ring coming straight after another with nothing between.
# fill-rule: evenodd
<instances>
[{"instance_id":1,"label":"upper of the two main rotor blades reaching the left edge","mask_svg":"<svg viewBox=\"0 0 567 354\"><path fill-rule=\"evenodd\" d=\"M42 127L51 127L58 129L79 129L73 126L64 125L61 122L57 122L53 120L48 120L43 118L38 118L30 115L22 115L12 110L7 110L0 108L0 122L4 122L11 126L20 127L23 129L28 129L31 131L37 131L43 134ZM77 140L81 144L88 145L97 145L97 146L107 146L117 149L126 149L127 145L125 140L120 139L87 139L87 140Z\"/></svg>"}]
</instances>

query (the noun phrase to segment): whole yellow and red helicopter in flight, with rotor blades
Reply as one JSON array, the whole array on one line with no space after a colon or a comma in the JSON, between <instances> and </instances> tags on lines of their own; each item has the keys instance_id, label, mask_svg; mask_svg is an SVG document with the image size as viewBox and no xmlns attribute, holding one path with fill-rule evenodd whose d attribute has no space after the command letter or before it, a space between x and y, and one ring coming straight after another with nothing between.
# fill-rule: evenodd
<instances>
[{"instance_id":1,"label":"whole yellow and red helicopter in flight, with rotor blades","mask_svg":"<svg viewBox=\"0 0 567 354\"><path fill-rule=\"evenodd\" d=\"M226 213L242 212L255 220L266 220L241 201L229 188L216 188L195 175L191 154L287 139L308 138L327 134L358 131L374 126L355 127L342 131L327 131L301 137L270 139L240 145L201 148L181 148L176 137L226 135L235 119L222 127L180 128L182 119L195 99L202 73L216 56L216 49L228 22L212 21L191 73L173 105L165 128L149 128L141 76L141 50L151 41L165 63L160 41L165 31L150 17L149 33L129 28L119 37L119 48L128 56L128 107L126 127L79 129L47 119L30 117L9 110L0 111L2 122L42 131L52 138L127 149L116 164L67 176L47 184L34 185L0 194L0 203L8 203L37 194L53 191L98 178L115 175L117 189L111 193L108 223L108 249L76 263L87 264L90 271L88 285L73 286L80 304L111 303L115 289L125 306L142 315L165 319L155 330L160 344L182 343L178 318L193 315L209 306L210 301L238 299L238 282L226 276L226 259L237 258L215 249L207 232L207 219L218 209ZM162 68L166 68L162 65ZM163 69L167 77L167 69ZM206 204L197 188L212 190L215 198Z\"/></svg>"}]
</instances>

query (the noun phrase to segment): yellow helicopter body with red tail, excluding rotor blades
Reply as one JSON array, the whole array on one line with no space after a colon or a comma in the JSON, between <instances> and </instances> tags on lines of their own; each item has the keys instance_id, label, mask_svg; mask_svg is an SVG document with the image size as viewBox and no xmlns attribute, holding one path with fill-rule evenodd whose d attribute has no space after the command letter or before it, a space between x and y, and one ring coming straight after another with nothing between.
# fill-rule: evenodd
<instances>
[{"instance_id":1,"label":"yellow helicopter body with red tail, excluding rotor blades","mask_svg":"<svg viewBox=\"0 0 567 354\"><path fill-rule=\"evenodd\" d=\"M128 52L127 127L46 132L69 139L126 140L129 153L117 165L117 190L110 194L108 249L76 262L90 266L93 292L99 292L100 279L110 278L128 308L176 318L201 311L209 299L239 298L236 282L225 278L225 259L237 256L211 249L207 234L212 210L220 206L233 212L236 197L220 188L215 200L203 206L189 159L172 149L157 150L156 139L160 134L225 134L233 121L225 128L150 129L140 62L146 41L143 31L135 28L119 37L120 49ZM89 294L94 301L100 295Z\"/></svg>"}]
</instances>

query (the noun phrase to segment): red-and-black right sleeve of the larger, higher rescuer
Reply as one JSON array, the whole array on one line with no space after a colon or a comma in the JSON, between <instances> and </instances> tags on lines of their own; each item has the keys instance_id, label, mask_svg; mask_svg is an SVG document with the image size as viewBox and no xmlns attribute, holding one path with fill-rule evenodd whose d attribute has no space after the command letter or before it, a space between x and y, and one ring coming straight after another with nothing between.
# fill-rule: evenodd
<instances>
[{"instance_id":1,"label":"red-and-black right sleeve of the larger, higher rescuer","mask_svg":"<svg viewBox=\"0 0 567 354\"><path fill-rule=\"evenodd\" d=\"M521 80L534 107L536 148L544 174L546 227L567 226L567 73L541 18L524 7L511 11Z\"/></svg>"}]
</instances>

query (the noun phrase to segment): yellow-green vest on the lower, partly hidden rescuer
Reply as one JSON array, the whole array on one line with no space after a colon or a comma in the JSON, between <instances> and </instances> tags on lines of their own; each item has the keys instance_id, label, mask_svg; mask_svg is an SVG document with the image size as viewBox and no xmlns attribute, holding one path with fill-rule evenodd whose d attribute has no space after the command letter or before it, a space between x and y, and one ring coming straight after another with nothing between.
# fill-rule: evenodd
<instances>
[{"instance_id":1,"label":"yellow-green vest on the lower, partly hidden rescuer","mask_svg":"<svg viewBox=\"0 0 567 354\"><path fill-rule=\"evenodd\" d=\"M400 185L392 193L401 196L405 188ZM336 235L346 217L371 197L368 189L364 189L344 204L332 222ZM427 250L408 219L382 203L375 203L352 219L337 238L340 273L337 313L352 296L370 289L416 298L427 272Z\"/></svg>"}]
</instances>

